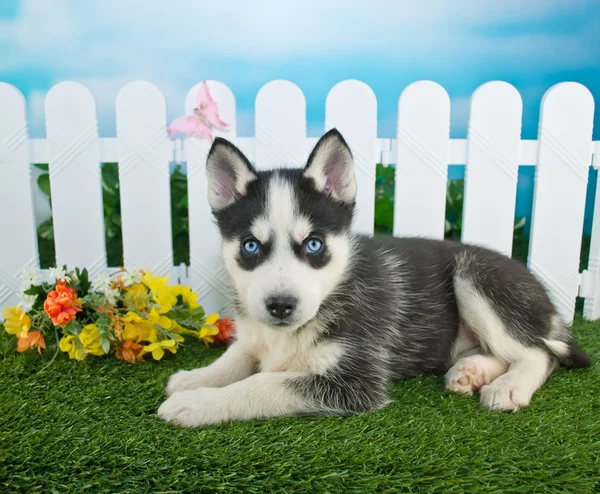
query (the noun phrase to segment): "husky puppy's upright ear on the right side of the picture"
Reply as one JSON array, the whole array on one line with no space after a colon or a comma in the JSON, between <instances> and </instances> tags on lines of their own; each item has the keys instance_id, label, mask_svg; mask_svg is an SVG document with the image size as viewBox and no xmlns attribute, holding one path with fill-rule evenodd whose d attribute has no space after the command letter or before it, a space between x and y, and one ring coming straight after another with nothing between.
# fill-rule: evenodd
<instances>
[{"instance_id":1,"label":"husky puppy's upright ear on the right side of the picture","mask_svg":"<svg viewBox=\"0 0 600 494\"><path fill-rule=\"evenodd\" d=\"M345 203L356 199L356 179L352 153L336 129L327 132L308 157L303 172L312 178L319 192Z\"/></svg>"}]
</instances>

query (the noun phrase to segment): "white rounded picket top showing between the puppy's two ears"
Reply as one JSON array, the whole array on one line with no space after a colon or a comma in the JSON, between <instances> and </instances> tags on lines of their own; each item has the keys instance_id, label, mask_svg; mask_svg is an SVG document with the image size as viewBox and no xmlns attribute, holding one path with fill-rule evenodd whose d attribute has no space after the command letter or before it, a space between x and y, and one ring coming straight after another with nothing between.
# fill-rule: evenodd
<instances>
[{"instance_id":1,"label":"white rounded picket top showing between the puppy's two ears","mask_svg":"<svg viewBox=\"0 0 600 494\"><path fill-rule=\"evenodd\" d=\"M263 86L255 103L256 167L259 170L306 163L306 102L289 81Z\"/></svg>"}]
</instances>

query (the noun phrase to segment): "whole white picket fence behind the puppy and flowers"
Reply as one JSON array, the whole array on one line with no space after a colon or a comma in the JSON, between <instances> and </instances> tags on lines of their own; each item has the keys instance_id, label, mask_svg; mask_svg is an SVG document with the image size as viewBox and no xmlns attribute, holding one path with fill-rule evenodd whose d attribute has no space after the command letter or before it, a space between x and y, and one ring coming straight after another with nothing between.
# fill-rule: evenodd
<instances>
[{"instance_id":1,"label":"whole white picket fence behind the puppy and flowers","mask_svg":"<svg viewBox=\"0 0 600 494\"><path fill-rule=\"evenodd\" d=\"M227 131L259 169L301 166L316 142L306 137L306 103L288 81L273 81L256 98L254 138L236 137L235 99L210 81ZM198 86L185 111L195 106ZM182 108L184 110L184 108ZM337 127L354 153L359 182L355 230L373 233L375 165L396 164L395 235L443 238L448 164L466 165L463 241L511 254L517 171L535 165L536 182L529 267L549 289L565 321L577 296L585 316L600 317L600 181L589 268L579 273L586 186L590 165L600 164L592 142L594 100L580 84L562 83L542 102L539 138L521 140L522 102L505 82L474 93L467 139L450 139L450 99L440 85L420 81L398 104L396 139L377 138L377 100L359 81L337 84L326 101L326 129ZM0 308L18 302L20 275L38 265L32 209L31 164L49 163L56 257L59 265L107 269L100 163L118 162L125 265L171 274L191 283L210 310L227 297L220 239L206 199L206 140L172 140L164 96L148 82L125 86L116 100L117 136L98 137L95 102L84 86L64 82L46 98L46 138L30 139L25 100L0 83ZM189 268L174 267L169 170L187 162Z\"/></svg>"}]
</instances>

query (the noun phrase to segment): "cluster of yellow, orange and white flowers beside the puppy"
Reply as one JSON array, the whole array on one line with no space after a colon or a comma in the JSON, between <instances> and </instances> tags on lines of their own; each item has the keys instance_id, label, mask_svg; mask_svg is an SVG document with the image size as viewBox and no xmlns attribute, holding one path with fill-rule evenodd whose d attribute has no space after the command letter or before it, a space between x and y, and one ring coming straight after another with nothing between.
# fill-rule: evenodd
<instances>
[{"instance_id":1,"label":"cluster of yellow, orange and white flowers beside the puppy","mask_svg":"<svg viewBox=\"0 0 600 494\"><path fill-rule=\"evenodd\" d=\"M17 350L46 348L44 334L54 329L59 349L75 360L114 354L129 363L165 351L176 353L190 335L209 343L229 343L235 330L229 318L206 315L189 287L169 277L121 268L94 283L87 270L50 270L52 282L37 270L23 273L22 302L4 310L4 329L17 337ZM32 330L33 329L33 330Z\"/></svg>"}]
</instances>

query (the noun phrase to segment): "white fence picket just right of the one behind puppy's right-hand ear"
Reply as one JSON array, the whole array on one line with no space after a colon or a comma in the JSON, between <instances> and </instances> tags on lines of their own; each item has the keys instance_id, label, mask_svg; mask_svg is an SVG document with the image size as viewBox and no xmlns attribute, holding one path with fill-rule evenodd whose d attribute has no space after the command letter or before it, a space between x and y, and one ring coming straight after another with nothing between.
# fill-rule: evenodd
<instances>
[{"instance_id":1,"label":"white fence picket just right of the one behind puppy's right-hand ear","mask_svg":"<svg viewBox=\"0 0 600 494\"><path fill-rule=\"evenodd\" d=\"M450 98L415 82L398 102L394 235L444 238Z\"/></svg>"}]
</instances>

